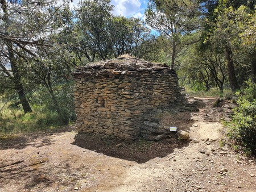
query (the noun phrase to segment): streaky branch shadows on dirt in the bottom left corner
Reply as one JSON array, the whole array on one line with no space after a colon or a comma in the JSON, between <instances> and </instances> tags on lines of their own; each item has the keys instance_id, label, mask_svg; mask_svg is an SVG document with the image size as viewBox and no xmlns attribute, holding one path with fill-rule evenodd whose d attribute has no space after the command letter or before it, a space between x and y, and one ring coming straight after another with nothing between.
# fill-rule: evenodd
<instances>
[{"instance_id":1,"label":"streaky branch shadows on dirt in the bottom left corner","mask_svg":"<svg viewBox=\"0 0 256 192\"><path fill-rule=\"evenodd\" d=\"M69 187L68 191L73 191L71 190L72 181L78 180L77 176L73 174L76 170L69 168L67 160L64 162L58 166L49 166L47 155L36 155L35 153L26 157L15 155L15 158L0 163L0 189L5 189L5 187L8 189L8 186L11 189L11 185L15 181L15 185L19 184L19 189L5 191L59 191L54 187L63 189ZM44 190L47 187L50 187L51 190Z\"/></svg>"}]
</instances>

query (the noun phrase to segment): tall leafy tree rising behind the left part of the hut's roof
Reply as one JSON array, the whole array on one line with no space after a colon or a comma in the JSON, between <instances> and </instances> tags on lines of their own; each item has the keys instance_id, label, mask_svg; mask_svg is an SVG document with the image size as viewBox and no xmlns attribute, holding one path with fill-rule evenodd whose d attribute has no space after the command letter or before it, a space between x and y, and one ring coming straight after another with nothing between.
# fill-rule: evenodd
<instances>
[{"instance_id":1,"label":"tall leafy tree rising behind the left part of the hut's roof","mask_svg":"<svg viewBox=\"0 0 256 192\"><path fill-rule=\"evenodd\" d=\"M112 19L111 11L113 6L110 0L80 1L79 8L76 10L76 18L85 49L89 49L91 54L86 52L88 59L90 55L97 55L105 60L109 56L109 50L112 48L112 42L109 41L109 21Z\"/></svg>"}]
</instances>

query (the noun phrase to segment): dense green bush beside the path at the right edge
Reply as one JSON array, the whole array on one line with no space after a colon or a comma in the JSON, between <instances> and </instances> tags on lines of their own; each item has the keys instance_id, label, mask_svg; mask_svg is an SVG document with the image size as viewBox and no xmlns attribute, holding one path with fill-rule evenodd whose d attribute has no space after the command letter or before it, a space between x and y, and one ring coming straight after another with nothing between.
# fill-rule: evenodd
<instances>
[{"instance_id":1,"label":"dense green bush beside the path at the right edge","mask_svg":"<svg viewBox=\"0 0 256 192\"><path fill-rule=\"evenodd\" d=\"M241 144L246 152L256 154L256 89L255 84L249 84L245 95L237 101L232 122L229 124L228 136L235 143Z\"/></svg>"}]
</instances>

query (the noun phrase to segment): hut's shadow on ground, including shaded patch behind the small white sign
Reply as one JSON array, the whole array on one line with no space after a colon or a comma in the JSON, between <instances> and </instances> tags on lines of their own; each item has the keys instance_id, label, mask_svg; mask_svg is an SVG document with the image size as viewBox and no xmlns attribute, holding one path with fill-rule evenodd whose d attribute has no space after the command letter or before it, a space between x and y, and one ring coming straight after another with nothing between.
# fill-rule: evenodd
<instances>
[{"instance_id":1,"label":"hut's shadow on ground, including shaded patch behind the small white sign","mask_svg":"<svg viewBox=\"0 0 256 192\"><path fill-rule=\"evenodd\" d=\"M155 114L155 116L163 126L175 126L180 130L189 131L193 123L191 112L165 111ZM155 157L165 157L171 154L175 148L185 147L189 144L188 141L178 140L175 134L165 140L147 141L141 138L133 143L102 138L99 135L78 133L72 144L90 151L103 153L107 156L136 161L138 163L147 162Z\"/></svg>"}]
</instances>

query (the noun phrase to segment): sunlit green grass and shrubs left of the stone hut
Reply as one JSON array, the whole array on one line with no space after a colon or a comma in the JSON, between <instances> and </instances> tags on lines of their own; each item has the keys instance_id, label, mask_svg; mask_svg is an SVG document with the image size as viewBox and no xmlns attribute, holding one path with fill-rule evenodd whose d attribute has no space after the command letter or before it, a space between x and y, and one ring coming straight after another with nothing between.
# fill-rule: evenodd
<instances>
[{"instance_id":1,"label":"sunlit green grass and shrubs left of the stone hut","mask_svg":"<svg viewBox=\"0 0 256 192\"><path fill-rule=\"evenodd\" d=\"M24 114L16 94L0 97L0 132L19 133L58 127L76 120L73 101L73 82L53 87L60 111L45 87L28 94L33 112ZM16 96L16 97L15 97Z\"/></svg>"}]
</instances>

